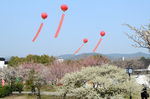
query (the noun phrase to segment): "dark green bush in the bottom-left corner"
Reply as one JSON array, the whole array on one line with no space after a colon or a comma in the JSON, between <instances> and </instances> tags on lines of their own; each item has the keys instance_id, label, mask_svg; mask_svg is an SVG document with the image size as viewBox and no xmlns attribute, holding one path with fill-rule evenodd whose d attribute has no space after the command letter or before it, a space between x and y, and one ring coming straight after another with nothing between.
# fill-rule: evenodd
<instances>
[{"instance_id":1,"label":"dark green bush in the bottom-left corner","mask_svg":"<svg viewBox=\"0 0 150 99\"><path fill-rule=\"evenodd\" d=\"M11 87L10 86L0 86L0 98L9 96L11 94Z\"/></svg>"}]
</instances>

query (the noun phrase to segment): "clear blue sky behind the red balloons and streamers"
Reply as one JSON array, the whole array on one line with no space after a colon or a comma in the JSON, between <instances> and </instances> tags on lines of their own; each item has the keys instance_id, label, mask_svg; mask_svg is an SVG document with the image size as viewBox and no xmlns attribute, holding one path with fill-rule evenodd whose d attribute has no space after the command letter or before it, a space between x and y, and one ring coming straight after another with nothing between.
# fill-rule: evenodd
<instances>
[{"instance_id":1,"label":"clear blue sky behind the red balloons and streamers","mask_svg":"<svg viewBox=\"0 0 150 99\"><path fill-rule=\"evenodd\" d=\"M54 38L62 11L67 4L65 20L57 39ZM122 24L140 27L150 22L150 0L1 0L0 1L0 56L26 56L48 54L58 56L72 54L82 44L89 42L80 53L92 52L100 36L107 34L98 53L145 52L131 46L125 32L132 33ZM44 27L37 38L32 38L43 20L42 12L48 13Z\"/></svg>"}]
</instances>

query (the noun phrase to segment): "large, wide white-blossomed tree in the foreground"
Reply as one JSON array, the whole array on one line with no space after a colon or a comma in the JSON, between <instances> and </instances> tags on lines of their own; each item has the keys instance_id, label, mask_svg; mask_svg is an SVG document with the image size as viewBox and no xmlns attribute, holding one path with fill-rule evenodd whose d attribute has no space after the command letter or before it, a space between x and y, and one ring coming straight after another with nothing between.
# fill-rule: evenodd
<instances>
[{"instance_id":1,"label":"large, wide white-blossomed tree in the foreground","mask_svg":"<svg viewBox=\"0 0 150 99\"><path fill-rule=\"evenodd\" d=\"M61 80L63 86L60 91L64 99L66 94L73 94L79 99L124 99L130 88L132 94L141 90L140 85L128 78L125 70L116 66L86 67L66 74Z\"/></svg>"}]
</instances>

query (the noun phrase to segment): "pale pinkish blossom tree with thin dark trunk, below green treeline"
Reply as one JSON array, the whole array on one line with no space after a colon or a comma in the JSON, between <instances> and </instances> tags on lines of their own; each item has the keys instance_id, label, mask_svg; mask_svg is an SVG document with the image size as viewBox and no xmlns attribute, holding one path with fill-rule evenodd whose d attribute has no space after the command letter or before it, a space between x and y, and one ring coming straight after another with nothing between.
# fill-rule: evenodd
<instances>
[{"instance_id":1,"label":"pale pinkish blossom tree with thin dark trunk, below green treeline","mask_svg":"<svg viewBox=\"0 0 150 99\"><path fill-rule=\"evenodd\" d=\"M38 99L41 99L40 89L43 85L48 83L48 67L42 64L25 63L17 68L18 77L26 84L34 86L38 90Z\"/></svg>"}]
</instances>

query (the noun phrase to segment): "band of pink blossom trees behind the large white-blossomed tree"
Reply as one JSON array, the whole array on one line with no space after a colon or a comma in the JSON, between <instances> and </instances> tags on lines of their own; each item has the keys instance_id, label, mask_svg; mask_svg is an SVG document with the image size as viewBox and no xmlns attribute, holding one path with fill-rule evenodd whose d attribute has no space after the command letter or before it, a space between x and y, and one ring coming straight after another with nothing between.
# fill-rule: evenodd
<instances>
[{"instance_id":1,"label":"band of pink blossom trees behind the large white-blossomed tree","mask_svg":"<svg viewBox=\"0 0 150 99\"><path fill-rule=\"evenodd\" d=\"M81 70L82 67L101 66L109 63L110 60L102 55L88 56L80 60L69 60L64 62L54 62L50 67L50 81L52 84L59 83L59 80L66 74Z\"/></svg>"}]
</instances>

